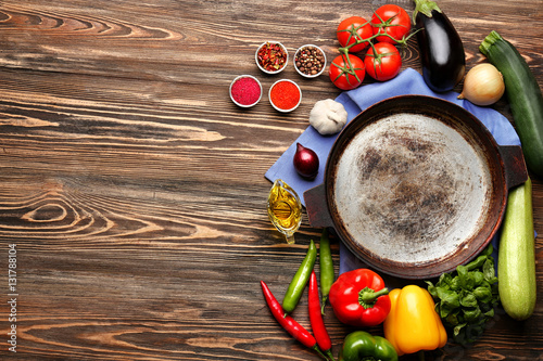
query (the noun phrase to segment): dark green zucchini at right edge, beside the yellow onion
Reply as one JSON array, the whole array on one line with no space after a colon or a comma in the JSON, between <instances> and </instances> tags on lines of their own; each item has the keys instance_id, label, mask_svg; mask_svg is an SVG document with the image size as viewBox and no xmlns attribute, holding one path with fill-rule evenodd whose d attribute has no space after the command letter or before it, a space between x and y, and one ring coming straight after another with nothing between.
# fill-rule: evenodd
<instances>
[{"instance_id":1,"label":"dark green zucchini at right edge, beside the yellow onion","mask_svg":"<svg viewBox=\"0 0 543 361\"><path fill-rule=\"evenodd\" d=\"M502 73L526 163L543 178L543 95L538 81L517 49L496 31L479 50Z\"/></svg>"}]
</instances>

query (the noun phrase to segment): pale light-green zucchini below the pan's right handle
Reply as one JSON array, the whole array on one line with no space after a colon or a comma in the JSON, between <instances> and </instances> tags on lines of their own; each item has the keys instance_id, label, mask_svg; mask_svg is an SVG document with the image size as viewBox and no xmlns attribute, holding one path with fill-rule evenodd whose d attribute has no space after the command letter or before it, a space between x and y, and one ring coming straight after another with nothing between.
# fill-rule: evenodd
<instances>
[{"instance_id":1,"label":"pale light-green zucchini below the pan's right handle","mask_svg":"<svg viewBox=\"0 0 543 361\"><path fill-rule=\"evenodd\" d=\"M509 191L497 253L497 289L505 312L526 320L535 307L535 237L532 182Z\"/></svg>"}]
</instances>

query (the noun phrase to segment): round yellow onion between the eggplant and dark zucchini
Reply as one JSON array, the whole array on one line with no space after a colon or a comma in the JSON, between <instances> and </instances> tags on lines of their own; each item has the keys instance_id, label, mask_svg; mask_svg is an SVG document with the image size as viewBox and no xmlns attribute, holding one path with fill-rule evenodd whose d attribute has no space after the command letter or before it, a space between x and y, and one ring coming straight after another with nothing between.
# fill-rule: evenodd
<instances>
[{"instance_id":1,"label":"round yellow onion between the eggplant and dark zucchini","mask_svg":"<svg viewBox=\"0 0 543 361\"><path fill-rule=\"evenodd\" d=\"M464 79L464 89L458 99L467 99L476 105L491 105L502 98L505 91L504 77L497 68L483 63L473 66Z\"/></svg>"}]
</instances>

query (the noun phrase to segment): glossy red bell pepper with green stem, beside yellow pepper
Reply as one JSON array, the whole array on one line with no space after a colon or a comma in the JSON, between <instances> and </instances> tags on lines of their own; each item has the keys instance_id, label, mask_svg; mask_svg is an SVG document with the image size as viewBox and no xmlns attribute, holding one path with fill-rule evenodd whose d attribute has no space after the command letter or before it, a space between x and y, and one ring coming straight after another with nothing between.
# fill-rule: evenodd
<instances>
[{"instance_id":1,"label":"glossy red bell pepper with green stem, beside yellow pepper","mask_svg":"<svg viewBox=\"0 0 543 361\"><path fill-rule=\"evenodd\" d=\"M352 326L376 326L384 321L391 308L384 281L368 269L342 273L328 297L338 320Z\"/></svg>"}]
</instances>

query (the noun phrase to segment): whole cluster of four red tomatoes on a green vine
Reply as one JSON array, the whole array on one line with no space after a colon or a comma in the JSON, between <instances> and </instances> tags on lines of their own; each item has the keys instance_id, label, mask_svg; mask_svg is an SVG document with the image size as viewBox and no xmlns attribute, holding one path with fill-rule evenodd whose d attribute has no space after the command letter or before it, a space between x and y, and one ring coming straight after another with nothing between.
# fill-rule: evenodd
<instances>
[{"instance_id":1,"label":"whole cluster of four red tomatoes on a green vine","mask_svg":"<svg viewBox=\"0 0 543 361\"><path fill-rule=\"evenodd\" d=\"M395 44L405 44L409 31L409 15L395 4L380 7L369 22L361 16L343 20L336 31L341 55L330 64L330 80L342 90L351 90L366 74L379 81L394 78L402 67ZM352 54L359 52L365 52L363 57Z\"/></svg>"}]
</instances>

